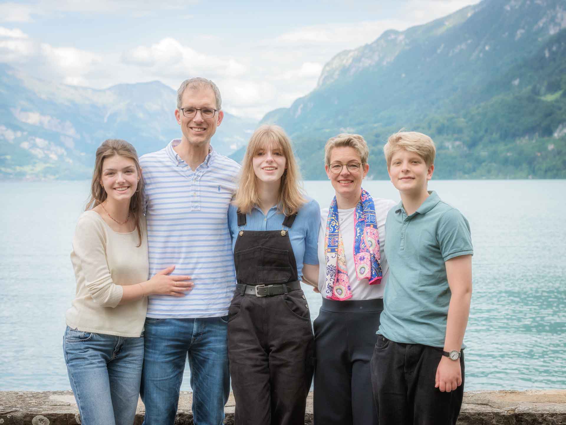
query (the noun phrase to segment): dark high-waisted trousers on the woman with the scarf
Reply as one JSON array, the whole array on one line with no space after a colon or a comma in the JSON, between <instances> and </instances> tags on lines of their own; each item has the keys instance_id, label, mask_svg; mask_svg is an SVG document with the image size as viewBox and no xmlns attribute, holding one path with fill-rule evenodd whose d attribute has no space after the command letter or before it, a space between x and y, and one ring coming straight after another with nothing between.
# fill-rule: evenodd
<instances>
[{"instance_id":1,"label":"dark high-waisted trousers on the woman with the scarf","mask_svg":"<svg viewBox=\"0 0 566 425\"><path fill-rule=\"evenodd\" d=\"M382 310L382 299L323 298L314 322L316 425L378 424L370 360Z\"/></svg>"}]
</instances>

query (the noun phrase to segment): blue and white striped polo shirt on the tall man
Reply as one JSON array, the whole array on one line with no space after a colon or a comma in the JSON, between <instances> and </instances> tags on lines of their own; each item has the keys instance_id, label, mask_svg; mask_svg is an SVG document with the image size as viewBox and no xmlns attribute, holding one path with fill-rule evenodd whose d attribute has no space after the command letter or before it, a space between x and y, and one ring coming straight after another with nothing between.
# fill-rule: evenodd
<instances>
[{"instance_id":1,"label":"blue and white striped polo shirt on the tall man","mask_svg":"<svg viewBox=\"0 0 566 425\"><path fill-rule=\"evenodd\" d=\"M147 317L217 317L228 314L235 273L228 231L228 206L236 191L240 165L210 152L195 171L173 146L141 156L145 183L149 277L175 265L189 275L188 295L150 295Z\"/></svg>"}]
</instances>

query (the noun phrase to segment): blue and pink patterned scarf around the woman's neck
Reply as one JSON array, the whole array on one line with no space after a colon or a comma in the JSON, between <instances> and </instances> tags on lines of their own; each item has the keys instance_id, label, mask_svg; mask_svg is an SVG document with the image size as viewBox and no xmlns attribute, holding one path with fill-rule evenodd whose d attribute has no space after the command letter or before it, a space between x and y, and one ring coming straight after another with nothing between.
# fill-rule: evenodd
<instances>
[{"instance_id":1,"label":"blue and pink patterned scarf around the woman's neck","mask_svg":"<svg viewBox=\"0 0 566 425\"><path fill-rule=\"evenodd\" d=\"M381 283L378 223L374 199L362 189L354 210L354 265L358 280L367 279L370 285ZM338 204L332 199L324 235L326 257L326 298L344 301L352 296L344 243L338 224Z\"/></svg>"}]
</instances>

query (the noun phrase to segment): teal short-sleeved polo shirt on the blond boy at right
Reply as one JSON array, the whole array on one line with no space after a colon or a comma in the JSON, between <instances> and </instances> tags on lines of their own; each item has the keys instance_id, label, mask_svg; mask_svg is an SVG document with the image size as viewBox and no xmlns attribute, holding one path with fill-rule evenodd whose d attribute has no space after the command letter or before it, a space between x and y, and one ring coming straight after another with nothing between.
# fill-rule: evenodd
<instances>
[{"instance_id":1,"label":"teal short-sleeved polo shirt on the blond boy at right","mask_svg":"<svg viewBox=\"0 0 566 425\"><path fill-rule=\"evenodd\" d=\"M451 298L444 262L474 251L468 220L436 192L429 194L414 214L405 213L402 201L387 214L389 277L378 334L395 342L444 347Z\"/></svg>"}]
</instances>

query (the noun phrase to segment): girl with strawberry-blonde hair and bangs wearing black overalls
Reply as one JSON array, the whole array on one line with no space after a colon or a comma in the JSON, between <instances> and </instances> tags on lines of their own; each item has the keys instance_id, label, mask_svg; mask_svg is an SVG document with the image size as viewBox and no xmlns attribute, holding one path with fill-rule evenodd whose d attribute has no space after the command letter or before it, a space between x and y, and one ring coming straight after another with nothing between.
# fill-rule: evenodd
<instances>
[{"instance_id":1,"label":"girl with strawberry-blonde hair and bangs wearing black overalls","mask_svg":"<svg viewBox=\"0 0 566 425\"><path fill-rule=\"evenodd\" d=\"M300 280L318 281L320 208L298 188L280 127L252 135L228 222L237 278L228 318L234 424L304 424L314 337Z\"/></svg>"}]
</instances>

